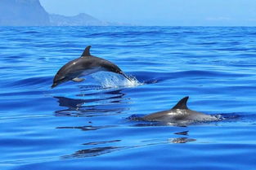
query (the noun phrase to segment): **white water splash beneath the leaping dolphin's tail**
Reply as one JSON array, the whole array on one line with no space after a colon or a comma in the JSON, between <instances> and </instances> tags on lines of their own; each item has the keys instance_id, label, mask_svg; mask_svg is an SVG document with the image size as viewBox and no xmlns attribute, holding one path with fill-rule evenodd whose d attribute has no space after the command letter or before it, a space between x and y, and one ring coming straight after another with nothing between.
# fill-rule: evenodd
<instances>
[{"instance_id":1,"label":"white water splash beneath the leaping dolphin's tail","mask_svg":"<svg viewBox=\"0 0 256 170\"><path fill-rule=\"evenodd\" d=\"M122 75L111 72L97 72L92 78L99 82L103 88L135 87L142 85L135 76L128 76L131 81Z\"/></svg>"}]
</instances>

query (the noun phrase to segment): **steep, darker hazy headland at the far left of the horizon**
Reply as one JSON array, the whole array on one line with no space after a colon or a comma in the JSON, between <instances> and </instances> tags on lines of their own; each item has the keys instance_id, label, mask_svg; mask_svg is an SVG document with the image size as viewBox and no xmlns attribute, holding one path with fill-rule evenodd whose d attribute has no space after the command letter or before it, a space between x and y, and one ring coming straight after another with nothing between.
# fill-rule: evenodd
<instances>
[{"instance_id":1,"label":"steep, darker hazy headland at the far left of the horizon","mask_svg":"<svg viewBox=\"0 0 256 170\"><path fill-rule=\"evenodd\" d=\"M0 26L50 25L39 0L0 0Z\"/></svg>"}]
</instances>

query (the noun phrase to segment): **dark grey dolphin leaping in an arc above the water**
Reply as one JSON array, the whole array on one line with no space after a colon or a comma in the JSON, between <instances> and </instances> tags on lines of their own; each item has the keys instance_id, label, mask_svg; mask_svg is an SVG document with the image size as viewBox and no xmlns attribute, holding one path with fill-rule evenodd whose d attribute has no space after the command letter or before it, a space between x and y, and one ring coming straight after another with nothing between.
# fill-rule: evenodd
<instances>
[{"instance_id":1,"label":"dark grey dolphin leaping in an arc above the water","mask_svg":"<svg viewBox=\"0 0 256 170\"><path fill-rule=\"evenodd\" d=\"M79 59L74 59L69 63L66 63L62 68L56 73L53 79L52 88L57 85L61 85L66 81L81 82L84 81L81 76L87 76L95 72L115 72L123 75L129 81L131 79L124 74L124 72L115 63L111 63L106 59L101 59L99 57L90 54L91 46L87 46L83 51L83 54Z\"/></svg>"}]
</instances>

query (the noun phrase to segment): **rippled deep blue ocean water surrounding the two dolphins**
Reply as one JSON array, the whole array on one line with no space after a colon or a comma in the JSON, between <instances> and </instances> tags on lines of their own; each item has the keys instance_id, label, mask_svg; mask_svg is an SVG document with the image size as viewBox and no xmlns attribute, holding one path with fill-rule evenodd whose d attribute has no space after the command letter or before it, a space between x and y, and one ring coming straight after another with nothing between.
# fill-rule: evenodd
<instances>
[{"instance_id":1,"label":"rippled deep blue ocean water surrounding the two dolphins","mask_svg":"<svg viewBox=\"0 0 256 170\"><path fill-rule=\"evenodd\" d=\"M0 168L255 169L256 29L1 27ZM51 89L82 54L119 65ZM129 119L188 107L225 120Z\"/></svg>"}]
</instances>

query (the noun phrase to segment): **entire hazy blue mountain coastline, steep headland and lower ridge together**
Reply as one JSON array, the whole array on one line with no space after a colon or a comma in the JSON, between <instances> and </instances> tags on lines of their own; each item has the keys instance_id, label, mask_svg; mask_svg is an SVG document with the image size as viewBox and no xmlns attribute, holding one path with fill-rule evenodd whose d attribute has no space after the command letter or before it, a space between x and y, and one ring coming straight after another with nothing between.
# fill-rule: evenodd
<instances>
[{"instance_id":1,"label":"entire hazy blue mountain coastline, steep headland and lower ridge together","mask_svg":"<svg viewBox=\"0 0 256 170\"><path fill-rule=\"evenodd\" d=\"M98 20L88 14L48 14L39 0L0 0L0 26L109 26L128 25Z\"/></svg>"}]
</instances>

